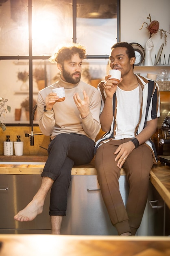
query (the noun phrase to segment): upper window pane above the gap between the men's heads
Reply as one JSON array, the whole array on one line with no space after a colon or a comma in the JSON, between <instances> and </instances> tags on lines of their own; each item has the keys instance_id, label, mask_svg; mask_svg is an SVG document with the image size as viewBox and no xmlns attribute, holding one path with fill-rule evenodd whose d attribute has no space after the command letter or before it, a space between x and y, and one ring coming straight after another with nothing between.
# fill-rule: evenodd
<instances>
[{"instance_id":1,"label":"upper window pane above the gap between the men's heads","mask_svg":"<svg viewBox=\"0 0 170 256\"><path fill-rule=\"evenodd\" d=\"M117 43L116 13L117 0L77 0L77 43L86 47L88 55L109 55Z\"/></svg>"}]
</instances>

